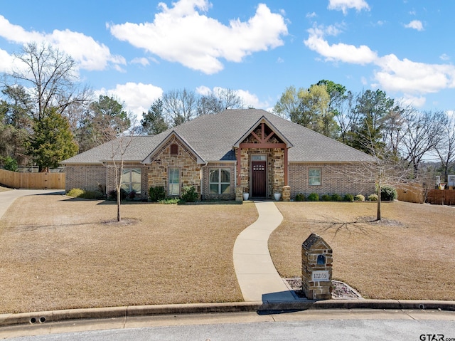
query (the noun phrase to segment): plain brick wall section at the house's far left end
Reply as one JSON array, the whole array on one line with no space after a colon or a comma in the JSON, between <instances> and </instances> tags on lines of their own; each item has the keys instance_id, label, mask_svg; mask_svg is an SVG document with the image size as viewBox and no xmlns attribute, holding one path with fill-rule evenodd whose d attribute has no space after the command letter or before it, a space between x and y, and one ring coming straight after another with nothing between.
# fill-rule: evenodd
<instances>
[{"instance_id":1,"label":"plain brick wall section at the house's far left end","mask_svg":"<svg viewBox=\"0 0 455 341\"><path fill-rule=\"evenodd\" d=\"M106 167L102 164L65 167L65 191L73 188L85 191L100 190L98 184L106 187Z\"/></svg>"}]
</instances>

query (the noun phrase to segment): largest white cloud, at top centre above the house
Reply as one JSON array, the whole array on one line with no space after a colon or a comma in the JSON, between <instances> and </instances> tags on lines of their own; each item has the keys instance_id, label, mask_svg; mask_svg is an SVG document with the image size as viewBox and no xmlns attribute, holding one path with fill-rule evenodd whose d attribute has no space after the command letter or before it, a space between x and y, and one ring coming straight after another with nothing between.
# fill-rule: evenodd
<instances>
[{"instance_id":1,"label":"largest white cloud, at top centre above the house","mask_svg":"<svg viewBox=\"0 0 455 341\"><path fill-rule=\"evenodd\" d=\"M282 46L281 36L287 35L283 16L265 4L259 4L248 21L232 19L229 26L201 14L208 11L208 0L180 0L171 8L164 3L159 7L153 23L108 27L121 41L207 74L223 69L221 59L238 63L254 52Z\"/></svg>"}]
</instances>

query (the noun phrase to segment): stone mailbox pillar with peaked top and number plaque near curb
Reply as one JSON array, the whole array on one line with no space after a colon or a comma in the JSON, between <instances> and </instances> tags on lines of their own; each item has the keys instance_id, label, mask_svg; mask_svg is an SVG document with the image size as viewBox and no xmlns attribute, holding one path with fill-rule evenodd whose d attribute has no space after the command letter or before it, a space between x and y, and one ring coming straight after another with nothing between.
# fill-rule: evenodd
<instances>
[{"instance_id":1,"label":"stone mailbox pillar with peaked top and number plaque near curb","mask_svg":"<svg viewBox=\"0 0 455 341\"><path fill-rule=\"evenodd\" d=\"M332 249L317 234L311 234L301 245L301 283L306 298L332 298Z\"/></svg>"}]
</instances>

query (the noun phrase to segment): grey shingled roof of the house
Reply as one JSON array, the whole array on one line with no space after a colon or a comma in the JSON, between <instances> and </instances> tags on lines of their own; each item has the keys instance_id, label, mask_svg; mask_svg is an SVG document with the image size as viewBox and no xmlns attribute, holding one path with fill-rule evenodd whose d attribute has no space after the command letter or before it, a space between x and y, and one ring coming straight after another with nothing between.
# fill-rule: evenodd
<instances>
[{"instance_id":1,"label":"grey shingled roof of the house","mask_svg":"<svg viewBox=\"0 0 455 341\"><path fill-rule=\"evenodd\" d=\"M224 110L215 115L203 115L194 120L173 127L154 136L132 137L125 154L125 162L144 162L146 157L174 131L198 153L204 162L235 160L232 147L245 132L264 117L286 137L292 145L289 148L289 162L358 162L371 161L363 152L323 136L306 127L285 120L264 110ZM100 164L112 159L113 147L118 142L107 142L66 159L63 164Z\"/></svg>"}]
</instances>

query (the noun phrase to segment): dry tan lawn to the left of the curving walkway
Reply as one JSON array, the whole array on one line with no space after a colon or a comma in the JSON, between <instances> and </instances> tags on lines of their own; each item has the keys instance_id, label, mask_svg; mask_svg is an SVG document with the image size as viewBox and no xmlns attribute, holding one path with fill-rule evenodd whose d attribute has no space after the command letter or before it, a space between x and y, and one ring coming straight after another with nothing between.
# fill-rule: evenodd
<instances>
[{"instance_id":1,"label":"dry tan lawn to the left of the curving walkway","mask_svg":"<svg viewBox=\"0 0 455 341\"><path fill-rule=\"evenodd\" d=\"M0 313L242 300L232 263L254 204L115 204L43 195L0 219Z\"/></svg>"}]
</instances>

